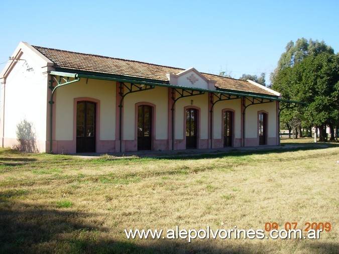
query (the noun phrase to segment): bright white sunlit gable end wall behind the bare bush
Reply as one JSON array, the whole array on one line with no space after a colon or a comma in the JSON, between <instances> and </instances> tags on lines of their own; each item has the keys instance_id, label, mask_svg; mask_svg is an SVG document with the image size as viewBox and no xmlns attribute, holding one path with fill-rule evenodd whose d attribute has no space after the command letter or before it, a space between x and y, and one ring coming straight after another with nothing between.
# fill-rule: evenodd
<instances>
[{"instance_id":1,"label":"bright white sunlit gable end wall behind the bare bush","mask_svg":"<svg viewBox=\"0 0 339 254\"><path fill-rule=\"evenodd\" d=\"M41 59L23 53L6 78L4 137L17 139L17 124L26 119L33 123L36 139L46 142L47 74L42 73ZM2 86L2 93L4 92ZM39 147L45 151L45 147Z\"/></svg>"}]
</instances>

